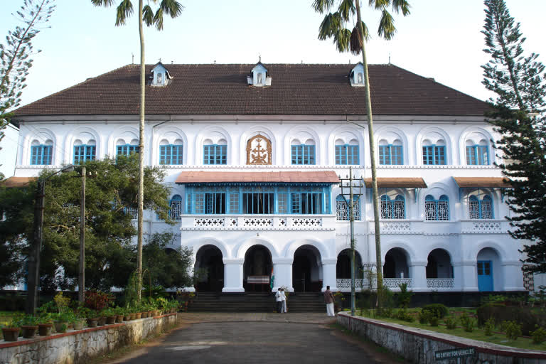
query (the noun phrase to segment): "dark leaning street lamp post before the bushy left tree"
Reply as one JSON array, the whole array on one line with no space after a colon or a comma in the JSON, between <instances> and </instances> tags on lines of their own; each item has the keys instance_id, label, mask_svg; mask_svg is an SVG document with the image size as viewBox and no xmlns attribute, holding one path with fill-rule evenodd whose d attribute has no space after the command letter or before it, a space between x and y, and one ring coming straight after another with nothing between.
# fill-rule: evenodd
<instances>
[{"instance_id":1,"label":"dark leaning street lamp post before the bushy left tree","mask_svg":"<svg viewBox=\"0 0 546 364\"><path fill-rule=\"evenodd\" d=\"M36 189L36 203L34 207L34 234L33 246L28 255L28 291L26 295L26 314L35 314L38 306L38 285L40 282L40 257L43 240L43 208L45 205L45 181L60 172L70 172L74 170L72 164L51 173L45 178L38 178L38 188Z\"/></svg>"}]
</instances>

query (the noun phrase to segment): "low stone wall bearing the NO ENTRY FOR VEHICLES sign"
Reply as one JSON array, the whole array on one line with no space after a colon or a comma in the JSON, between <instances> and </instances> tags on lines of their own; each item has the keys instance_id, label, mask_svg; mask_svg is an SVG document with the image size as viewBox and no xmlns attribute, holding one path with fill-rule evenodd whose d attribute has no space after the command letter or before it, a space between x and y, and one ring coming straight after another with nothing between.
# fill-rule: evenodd
<instances>
[{"instance_id":1,"label":"low stone wall bearing the NO ENTRY FOR VEHICLES sign","mask_svg":"<svg viewBox=\"0 0 546 364\"><path fill-rule=\"evenodd\" d=\"M402 356L410 363L546 364L544 351L510 348L396 323L385 323L360 316L351 317L350 313L346 312L338 314L336 321L360 336ZM476 357L461 358L460 362L456 359L437 362L434 357L437 351L461 348L475 348Z\"/></svg>"}]
</instances>

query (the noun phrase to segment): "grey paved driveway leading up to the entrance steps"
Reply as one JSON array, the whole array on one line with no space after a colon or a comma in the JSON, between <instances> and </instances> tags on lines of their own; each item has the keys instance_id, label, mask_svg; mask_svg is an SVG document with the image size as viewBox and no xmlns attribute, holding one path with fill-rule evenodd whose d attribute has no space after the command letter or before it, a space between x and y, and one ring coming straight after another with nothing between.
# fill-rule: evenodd
<instances>
[{"instance_id":1,"label":"grey paved driveway leading up to the entrance steps","mask_svg":"<svg viewBox=\"0 0 546 364\"><path fill-rule=\"evenodd\" d=\"M116 363L396 363L335 334L324 314L208 314L186 322L159 345Z\"/></svg>"}]
</instances>

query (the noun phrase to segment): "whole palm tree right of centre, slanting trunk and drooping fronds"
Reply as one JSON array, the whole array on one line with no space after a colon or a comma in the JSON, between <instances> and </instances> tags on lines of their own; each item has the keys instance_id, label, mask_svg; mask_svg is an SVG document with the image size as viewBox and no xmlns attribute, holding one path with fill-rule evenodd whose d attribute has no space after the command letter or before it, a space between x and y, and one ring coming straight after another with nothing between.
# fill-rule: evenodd
<instances>
[{"instance_id":1,"label":"whole palm tree right of centre, slanting trunk and drooping fronds","mask_svg":"<svg viewBox=\"0 0 546 364\"><path fill-rule=\"evenodd\" d=\"M372 102L370 98L370 82L368 77L368 61L366 60L365 42L370 38L368 27L363 23L360 16L360 1L340 0L336 12L329 12L334 0L314 0L313 8L320 14L328 12L319 27L319 39L333 38L333 43L340 52L350 50L355 55L362 52L362 63L364 65L365 82L365 103L366 116L368 117L368 137L370 139L370 156L372 159L372 191L373 191L373 218L375 220L375 265L377 267L378 290L382 287L382 264L381 264L381 239L379 231L379 199L378 199L378 178L375 173L375 144L373 141L373 119ZM402 12L403 16L410 14L410 4L407 0L369 0L369 5L375 10L381 11L381 18L378 26L378 36L387 41L395 36L396 28L394 18L388 9L392 7L395 13ZM346 24L356 13L356 25L350 31ZM354 253L353 253L354 255ZM353 258L354 261L354 258ZM379 300L380 294L378 294ZM379 303L379 302L378 302Z\"/></svg>"}]
</instances>

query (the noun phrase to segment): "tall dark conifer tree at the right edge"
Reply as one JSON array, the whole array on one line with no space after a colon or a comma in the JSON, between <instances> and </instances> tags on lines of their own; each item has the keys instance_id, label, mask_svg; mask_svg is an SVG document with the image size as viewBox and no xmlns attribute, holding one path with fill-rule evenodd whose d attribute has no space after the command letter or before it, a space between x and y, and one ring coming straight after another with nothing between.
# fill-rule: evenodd
<instances>
[{"instance_id":1,"label":"tall dark conifer tree at the right edge","mask_svg":"<svg viewBox=\"0 0 546 364\"><path fill-rule=\"evenodd\" d=\"M515 213L507 217L515 239L524 245L524 262L531 272L546 272L546 74L538 55L525 56L520 23L510 16L504 0L486 0L483 85L496 93L488 113L501 139L498 165L512 188L505 192Z\"/></svg>"}]
</instances>

